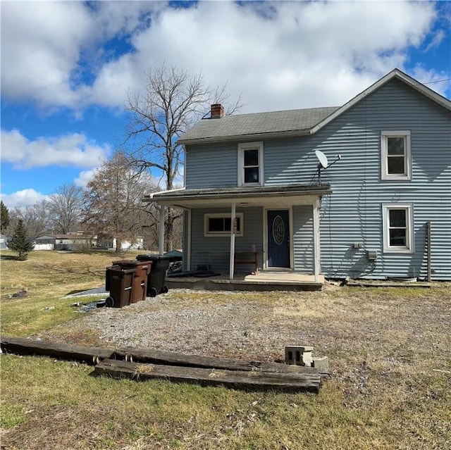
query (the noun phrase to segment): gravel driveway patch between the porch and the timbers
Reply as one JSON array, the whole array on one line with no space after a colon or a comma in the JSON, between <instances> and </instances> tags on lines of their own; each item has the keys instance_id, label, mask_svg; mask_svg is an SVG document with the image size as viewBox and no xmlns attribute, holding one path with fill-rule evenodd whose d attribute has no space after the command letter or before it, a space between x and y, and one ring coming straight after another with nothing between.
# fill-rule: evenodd
<instances>
[{"instance_id":1,"label":"gravel driveway patch between the porch and the timbers","mask_svg":"<svg viewBox=\"0 0 451 450\"><path fill-rule=\"evenodd\" d=\"M289 313L287 308L322 296L321 292L171 289L124 308L100 308L82 314L40 336L76 344L283 360L285 345L311 344L314 337L313 330L299 320L299 314ZM93 337L98 342L93 342Z\"/></svg>"}]
</instances>

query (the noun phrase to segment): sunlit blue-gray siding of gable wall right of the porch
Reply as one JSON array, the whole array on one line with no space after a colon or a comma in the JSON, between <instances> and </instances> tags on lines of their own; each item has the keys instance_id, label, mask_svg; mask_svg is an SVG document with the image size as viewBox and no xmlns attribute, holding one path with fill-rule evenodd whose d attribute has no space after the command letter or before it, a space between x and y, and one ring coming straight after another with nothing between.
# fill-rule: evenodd
<instances>
[{"instance_id":1,"label":"sunlit blue-gray siding of gable wall right of the porch","mask_svg":"<svg viewBox=\"0 0 451 450\"><path fill-rule=\"evenodd\" d=\"M410 130L412 181L381 180L381 131ZM324 175L321 266L332 277L426 277L431 221L433 280L451 280L451 115L394 80L321 130L327 155L343 159ZM321 134L322 134L321 133ZM350 145L352 141L352 145ZM414 254L383 253L382 204L411 203ZM352 244L362 244L354 250ZM375 250L375 263L367 250Z\"/></svg>"}]
</instances>

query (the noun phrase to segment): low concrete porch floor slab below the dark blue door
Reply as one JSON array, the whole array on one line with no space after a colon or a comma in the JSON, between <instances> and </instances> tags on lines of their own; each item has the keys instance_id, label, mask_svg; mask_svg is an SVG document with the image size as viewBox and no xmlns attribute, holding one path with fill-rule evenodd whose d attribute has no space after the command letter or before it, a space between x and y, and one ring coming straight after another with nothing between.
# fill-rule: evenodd
<instances>
[{"instance_id":1,"label":"low concrete porch floor slab below the dark blue door","mask_svg":"<svg viewBox=\"0 0 451 450\"><path fill-rule=\"evenodd\" d=\"M169 289L199 289L211 291L321 291L324 277L315 282L314 275L295 273L259 273L259 275L235 275L233 280L216 277L168 277Z\"/></svg>"}]
</instances>

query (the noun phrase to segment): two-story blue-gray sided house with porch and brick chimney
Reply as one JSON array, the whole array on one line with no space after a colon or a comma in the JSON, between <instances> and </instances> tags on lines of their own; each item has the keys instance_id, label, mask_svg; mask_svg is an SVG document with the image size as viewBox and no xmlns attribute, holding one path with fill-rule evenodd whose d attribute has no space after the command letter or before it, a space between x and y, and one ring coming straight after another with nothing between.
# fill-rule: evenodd
<instances>
[{"instance_id":1,"label":"two-story blue-gray sided house with porch and brick chimney","mask_svg":"<svg viewBox=\"0 0 451 450\"><path fill-rule=\"evenodd\" d=\"M185 270L451 280L451 101L402 71L340 107L216 104L179 143L185 187L147 201L185 210Z\"/></svg>"}]
</instances>

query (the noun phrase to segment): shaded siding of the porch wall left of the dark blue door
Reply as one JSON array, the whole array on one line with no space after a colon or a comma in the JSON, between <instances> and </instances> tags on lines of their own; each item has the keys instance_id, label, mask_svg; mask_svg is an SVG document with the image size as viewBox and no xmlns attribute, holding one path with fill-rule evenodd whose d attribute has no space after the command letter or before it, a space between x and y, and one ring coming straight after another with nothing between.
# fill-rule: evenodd
<instances>
[{"instance_id":1,"label":"shaded siding of the porch wall left of the dark blue door","mask_svg":"<svg viewBox=\"0 0 451 450\"><path fill-rule=\"evenodd\" d=\"M243 213L243 236L235 237L235 251L246 251L256 246L257 250L263 248L263 224L262 208L237 208L237 213ZM228 274L230 262L230 236L204 237L204 214L225 213L230 214L230 209L193 209L191 221L191 270L196 270L198 265L210 265L211 270L222 274ZM262 268L261 256L259 267ZM249 273L252 266L237 265L237 273Z\"/></svg>"}]
</instances>

